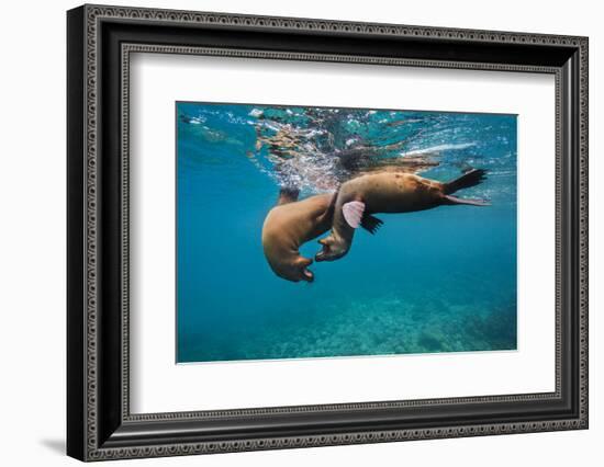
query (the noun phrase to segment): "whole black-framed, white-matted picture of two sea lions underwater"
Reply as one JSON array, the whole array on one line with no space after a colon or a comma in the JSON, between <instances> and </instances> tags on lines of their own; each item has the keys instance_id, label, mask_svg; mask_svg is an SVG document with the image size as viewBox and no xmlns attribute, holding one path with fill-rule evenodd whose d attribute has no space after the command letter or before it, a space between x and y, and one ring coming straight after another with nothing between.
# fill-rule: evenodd
<instances>
[{"instance_id":1,"label":"whole black-framed, white-matted picture of two sea lions underwater","mask_svg":"<svg viewBox=\"0 0 604 467\"><path fill-rule=\"evenodd\" d=\"M588 428L588 38L67 13L67 452Z\"/></svg>"}]
</instances>

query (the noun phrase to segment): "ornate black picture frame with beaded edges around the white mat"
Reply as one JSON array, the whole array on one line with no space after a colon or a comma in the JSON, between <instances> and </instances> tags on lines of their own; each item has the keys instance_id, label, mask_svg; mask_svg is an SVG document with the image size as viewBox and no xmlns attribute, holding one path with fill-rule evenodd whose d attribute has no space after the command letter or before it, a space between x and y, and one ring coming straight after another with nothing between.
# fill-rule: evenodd
<instances>
[{"instance_id":1,"label":"ornate black picture frame with beaded edges around the white mat","mask_svg":"<svg viewBox=\"0 0 604 467\"><path fill-rule=\"evenodd\" d=\"M175 456L588 428L588 38L83 5L67 14L67 453ZM556 390L132 414L133 52L530 71L556 78Z\"/></svg>"}]
</instances>

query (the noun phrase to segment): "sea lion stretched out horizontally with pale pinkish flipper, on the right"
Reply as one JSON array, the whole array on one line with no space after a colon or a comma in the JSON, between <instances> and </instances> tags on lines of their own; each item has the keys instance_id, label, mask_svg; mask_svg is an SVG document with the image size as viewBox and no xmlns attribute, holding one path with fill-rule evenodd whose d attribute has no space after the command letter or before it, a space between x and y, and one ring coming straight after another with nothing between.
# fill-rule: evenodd
<instances>
[{"instance_id":1,"label":"sea lion stretched out horizontally with pale pinkish flipper, on the right","mask_svg":"<svg viewBox=\"0 0 604 467\"><path fill-rule=\"evenodd\" d=\"M318 240L323 249L316 261L334 261L348 253L355 229L359 226L374 232L382 224L374 213L411 213L441 205L469 204L488 206L483 200L461 200L451 196L461 189L478 185L485 171L469 170L448 183L398 171L368 173L344 183L334 207L332 232Z\"/></svg>"}]
</instances>

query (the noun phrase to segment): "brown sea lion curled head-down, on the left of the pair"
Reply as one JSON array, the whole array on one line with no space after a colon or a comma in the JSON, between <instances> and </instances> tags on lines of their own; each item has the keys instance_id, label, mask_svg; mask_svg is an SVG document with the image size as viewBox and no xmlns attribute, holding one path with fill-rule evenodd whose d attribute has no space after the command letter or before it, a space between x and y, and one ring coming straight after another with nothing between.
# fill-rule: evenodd
<instances>
[{"instance_id":1,"label":"brown sea lion curled head-down, on the left of the pair","mask_svg":"<svg viewBox=\"0 0 604 467\"><path fill-rule=\"evenodd\" d=\"M300 254L300 246L332 227L334 193L318 194L298 201L299 191L281 189L277 206L268 213L262 226L262 247L271 270L292 282L313 282L307 269L313 260Z\"/></svg>"}]
</instances>

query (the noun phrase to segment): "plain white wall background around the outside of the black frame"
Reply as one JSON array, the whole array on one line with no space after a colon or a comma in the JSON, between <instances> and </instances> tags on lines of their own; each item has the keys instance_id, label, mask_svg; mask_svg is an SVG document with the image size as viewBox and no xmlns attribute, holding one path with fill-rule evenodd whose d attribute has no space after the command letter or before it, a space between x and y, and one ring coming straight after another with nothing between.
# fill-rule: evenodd
<instances>
[{"instance_id":1,"label":"plain white wall background around the outside of the black frame","mask_svg":"<svg viewBox=\"0 0 604 467\"><path fill-rule=\"evenodd\" d=\"M347 464L510 466L528 456L549 466L585 465L604 437L604 32L597 3L550 0L349 2L337 0L111 1L113 4L390 22L590 36L592 183L591 429L497 437L323 447L220 456L118 462L113 465L307 466ZM65 444L65 11L79 2L10 2L0 30L0 434L5 464L76 465ZM130 464L125 464L130 463ZM143 464L141 464L143 463Z\"/></svg>"}]
</instances>

